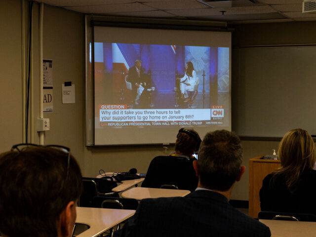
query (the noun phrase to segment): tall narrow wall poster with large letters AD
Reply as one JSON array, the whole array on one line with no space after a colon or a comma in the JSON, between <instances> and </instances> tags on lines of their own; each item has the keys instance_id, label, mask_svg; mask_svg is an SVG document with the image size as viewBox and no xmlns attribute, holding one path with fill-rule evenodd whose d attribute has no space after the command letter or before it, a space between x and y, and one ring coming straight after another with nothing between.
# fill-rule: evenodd
<instances>
[{"instance_id":1,"label":"tall narrow wall poster with large letters AD","mask_svg":"<svg viewBox=\"0 0 316 237\"><path fill-rule=\"evenodd\" d=\"M53 112L53 60L43 59L43 112Z\"/></svg>"}]
</instances>

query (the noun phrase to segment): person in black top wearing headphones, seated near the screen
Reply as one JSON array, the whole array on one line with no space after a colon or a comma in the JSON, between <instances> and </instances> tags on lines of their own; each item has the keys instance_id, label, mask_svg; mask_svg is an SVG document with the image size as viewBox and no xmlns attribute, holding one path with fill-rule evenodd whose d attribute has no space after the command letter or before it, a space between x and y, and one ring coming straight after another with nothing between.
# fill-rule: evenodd
<instances>
[{"instance_id":1,"label":"person in black top wearing headphones, seated near the screen","mask_svg":"<svg viewBox=\"0 0 316 237\"><path fill-rule=\"evenodd\" d=\"M175 153L170 156L155 157L148 168L142 187L160 188L161 185L175 185L178 189L197 188L198 178L193 168L192 155L201 142L197 132L189 128L181 128L175 143Z\"/></svg>"}]
</instances>

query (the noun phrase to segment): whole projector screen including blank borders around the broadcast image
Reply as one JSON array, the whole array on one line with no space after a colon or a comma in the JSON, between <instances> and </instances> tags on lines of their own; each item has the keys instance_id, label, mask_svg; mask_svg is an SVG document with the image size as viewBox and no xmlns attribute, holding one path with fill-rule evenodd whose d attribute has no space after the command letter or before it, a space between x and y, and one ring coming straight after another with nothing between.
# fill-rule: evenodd
<instances>
[{"instance_id":1,"label":"whole projector screen including blank borders around the broadcast image","mask_svg":"<svg viewBox=\"0 0 316 237\"><path fill-rule=\"evenodd\" d=\"M94 79L87 86L94 95L93 108L87 105L87 115L94 116L87 120L88 132L94 123L93 145L174 143L181 127L194 128L201 138L231 130L230 32L95 26L92 35L86 54L87 81ZM128 79L135 60L142 61L146 77L140 93L148 103L142 105L135 104L139 91L130 90ZM187 62L199 81L187 91L191 99L196 95L192 104L179 98L176 79L184 78Z\"/></svg>"}]
</instances>

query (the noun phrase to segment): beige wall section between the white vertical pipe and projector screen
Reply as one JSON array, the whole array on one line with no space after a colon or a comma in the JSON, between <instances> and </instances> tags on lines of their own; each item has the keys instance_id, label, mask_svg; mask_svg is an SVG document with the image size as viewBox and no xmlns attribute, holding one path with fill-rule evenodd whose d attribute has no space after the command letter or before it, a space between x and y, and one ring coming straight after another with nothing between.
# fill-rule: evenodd
<instances>
[{"instance_id":1,"label":"beige wall section between the white vertical pipe and projector screen","mask_svg":"<svg viewBox=\"0 0 316 237\"><path fill-rule=\"evenodd\" d=\"M45 5L43 58L53 60L53 112L44 144L71 149L84 169L84 15ZM76 87L76 103L62 104L62 83ZM87 164L89 165L89 164Z\"/></svg>"}]
</instances>

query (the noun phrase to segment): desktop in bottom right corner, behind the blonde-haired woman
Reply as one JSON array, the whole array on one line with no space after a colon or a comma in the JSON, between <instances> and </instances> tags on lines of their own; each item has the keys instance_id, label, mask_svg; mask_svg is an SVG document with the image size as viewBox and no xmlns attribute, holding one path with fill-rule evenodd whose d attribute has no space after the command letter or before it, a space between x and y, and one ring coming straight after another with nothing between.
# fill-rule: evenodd
<instances>
[{"instance_id":1,"label":"desktop in bottom right corner, behind the blonde-haired woman","mask_svg":"<svg viewBox=\"0 0 316 237\"><path fill-rule=\"evenodd\" d=\"M270 228L271 237L315 237L316 222L259 220Z\"/></svg>"}]
</instances>

